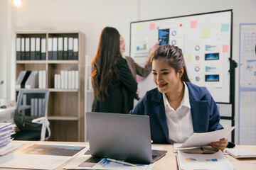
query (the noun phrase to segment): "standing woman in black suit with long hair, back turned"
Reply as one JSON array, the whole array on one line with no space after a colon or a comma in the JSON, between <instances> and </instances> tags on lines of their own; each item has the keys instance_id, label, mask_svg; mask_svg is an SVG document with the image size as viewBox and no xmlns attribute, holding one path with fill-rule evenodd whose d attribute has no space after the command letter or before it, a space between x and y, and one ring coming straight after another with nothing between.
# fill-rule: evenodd
<instances>
[{"instance_id":1,"label":"standing woman in black suit with long hair, back turned","mask_svg":"<svg viewBox=\"0 0 256 170\"><path fill-rule=\"evenodd\" d=\"M92 111L129 113L127 94L136 93L137 82L122 58L117 29L102 30L95 57L92 60Z\"/></svg>"}]
</instances>

